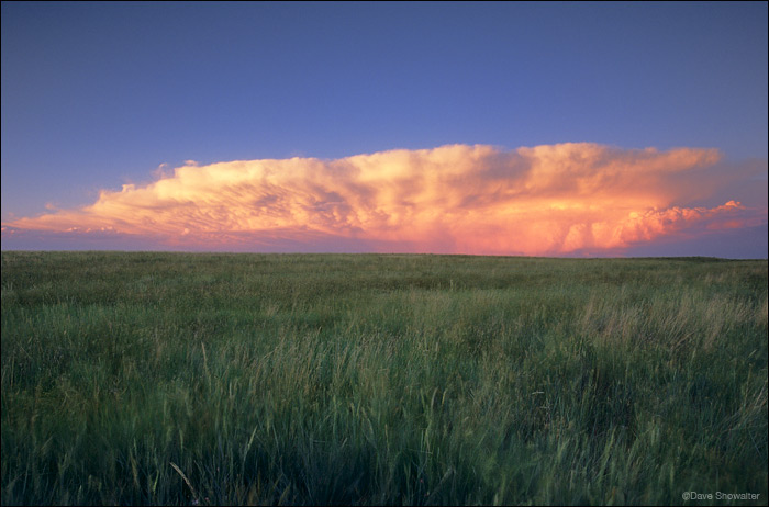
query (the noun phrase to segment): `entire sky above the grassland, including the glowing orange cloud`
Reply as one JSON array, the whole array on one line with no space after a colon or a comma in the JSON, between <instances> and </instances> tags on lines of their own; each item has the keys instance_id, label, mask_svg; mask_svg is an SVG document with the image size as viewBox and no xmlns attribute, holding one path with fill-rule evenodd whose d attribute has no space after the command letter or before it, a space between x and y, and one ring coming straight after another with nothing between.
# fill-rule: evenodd
<instances>
[{"instance_id":1,"label":"entire sky above the grassland, including the glowing orange cloud","mask_svg":"<svg viewBox=\"0 0 769 507\"><path fill-rule=\"evenodd\" d=\"M766 2L13 2L2 249L767 258Z\"/></svg>"}]
</instances>

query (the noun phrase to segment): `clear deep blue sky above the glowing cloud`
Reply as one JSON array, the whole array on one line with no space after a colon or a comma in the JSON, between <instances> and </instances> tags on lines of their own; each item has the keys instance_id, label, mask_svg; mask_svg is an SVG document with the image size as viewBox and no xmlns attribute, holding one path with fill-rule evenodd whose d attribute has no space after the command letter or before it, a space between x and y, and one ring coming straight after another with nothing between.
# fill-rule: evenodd
<instances>
[{"instance_id":1,"label":"clear deep blue sky above the glowing cloud","mask_svg":"<svg viewBox=\"0 0 769 507\"><path fill-rule=\"evenodd\" d=\"M766 2L2 2L2 219L185 160L597 143L766 166L767 41Z\"/></svg>"}]
</instances>

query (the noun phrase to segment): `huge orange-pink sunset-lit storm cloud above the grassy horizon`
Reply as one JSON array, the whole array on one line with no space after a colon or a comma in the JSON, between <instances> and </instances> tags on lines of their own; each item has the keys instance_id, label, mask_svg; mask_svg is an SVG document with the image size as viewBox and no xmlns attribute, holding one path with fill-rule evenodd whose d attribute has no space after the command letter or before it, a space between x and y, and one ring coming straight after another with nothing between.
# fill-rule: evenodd
<instances>
[{"instance_id":1,"label":"huge orange-pink sunset-lit storm cloud above the grassy horizon","mask_svg":"<svg viewBox=\"0 0 769 507\"><path fill-rule=\"evenodd\" d=\"M691 205L746 178L725 167L713 149L588 143L188 161L149 184L103 190L92 205L10 221L2 234L135 238L158 249L621 255L766 224L766 202Z\"/></svg>"}]
</instances>

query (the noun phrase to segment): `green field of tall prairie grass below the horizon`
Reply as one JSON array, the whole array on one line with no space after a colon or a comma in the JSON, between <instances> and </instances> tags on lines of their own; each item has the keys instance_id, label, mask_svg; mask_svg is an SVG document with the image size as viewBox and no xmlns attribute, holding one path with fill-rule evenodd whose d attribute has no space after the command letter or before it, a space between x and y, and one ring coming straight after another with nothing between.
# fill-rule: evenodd
<instances>
[{"instance_id":1,"label":"green field of tall prairie grass below the horizon","mask_svg":"<svg viewBox=\"0 0 769 507\"><path fill-rule=\"evenodd\" d=\"M767 281L766 260L5 251L1 500L766 505Z\"/></svg>"}]
</instances>

